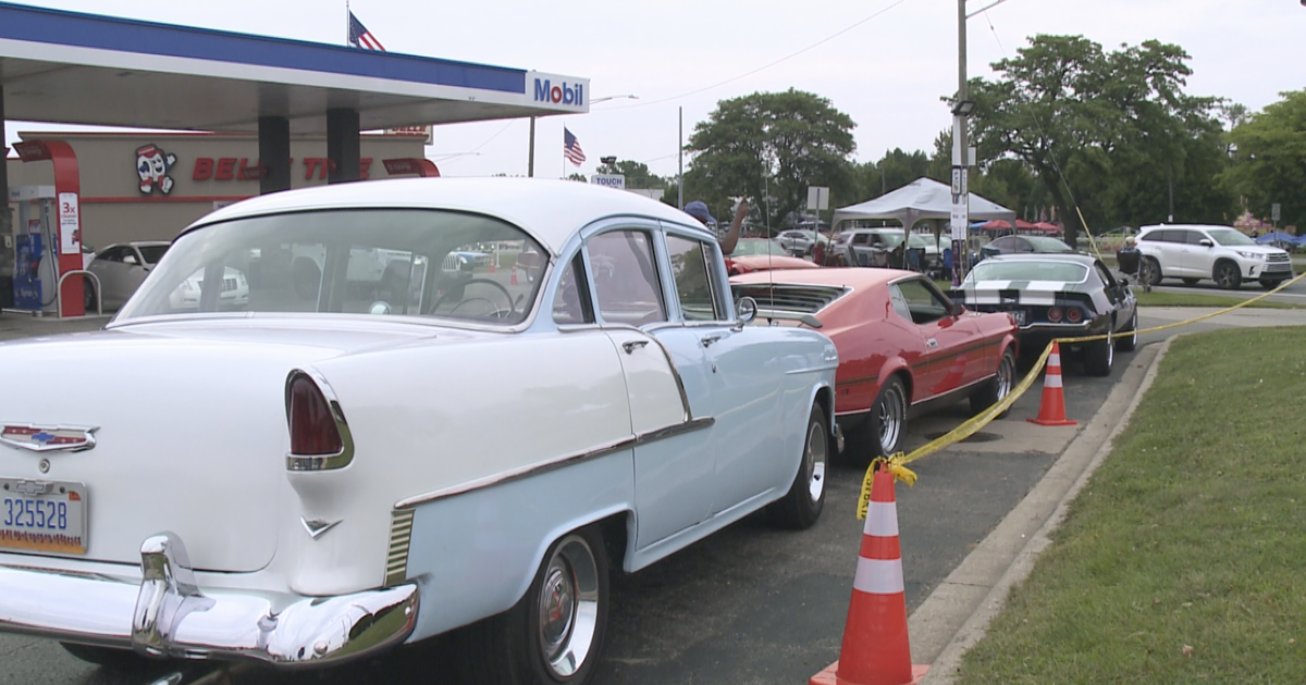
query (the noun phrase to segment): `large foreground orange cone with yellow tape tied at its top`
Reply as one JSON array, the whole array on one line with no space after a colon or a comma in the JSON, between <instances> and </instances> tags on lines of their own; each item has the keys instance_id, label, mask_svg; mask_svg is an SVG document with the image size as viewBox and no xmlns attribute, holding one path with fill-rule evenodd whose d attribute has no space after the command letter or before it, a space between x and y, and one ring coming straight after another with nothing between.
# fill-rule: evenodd
<instances>
[{"instance_id":1,"label":"large foreground orange cone with yellow tape tied at its top","mask_svg":"<svg viewBox=\"0 0 1306 685\"><path fill-rule=\"evenodd\" d=\"M871 481L844 647L838 660L812 676L808 685L914 685L929 669L927 664L912 664L893 475L879 470Z\"/></svg>"}]
</instances>

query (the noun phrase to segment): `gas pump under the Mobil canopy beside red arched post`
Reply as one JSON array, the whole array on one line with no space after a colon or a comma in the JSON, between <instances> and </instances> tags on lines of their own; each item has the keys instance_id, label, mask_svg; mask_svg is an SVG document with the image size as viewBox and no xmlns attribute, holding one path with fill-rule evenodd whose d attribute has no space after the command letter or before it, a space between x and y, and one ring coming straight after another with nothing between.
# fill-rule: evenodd
<instances>
[{"instance_id":1,"label":"gas pump under the Mobil canopy beside red arched post","mask_svg":"<svg viewBox=\"0 0 1306 685\"><path fill-rule=\"evenodd\" d=\"M54 185L10 188L18 205L14 227L13 305L33 313L57 312L60 235ZM78 252L81 245L77 247Z\"/></svg>"}]
</instances>

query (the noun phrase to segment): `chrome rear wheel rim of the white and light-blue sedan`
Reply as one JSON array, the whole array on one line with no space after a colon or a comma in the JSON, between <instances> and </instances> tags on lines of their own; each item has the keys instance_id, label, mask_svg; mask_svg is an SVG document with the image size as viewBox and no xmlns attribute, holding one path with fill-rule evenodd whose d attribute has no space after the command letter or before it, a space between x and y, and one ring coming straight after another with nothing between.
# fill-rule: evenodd
<instances>
[{"instance_id":1,"label":"chrome rear wheel rim of the white and light-blue sedan","mask_svg":"<svg viewBox=\"0 0 1306 685\"><path fill-rule=\"evenodd\" d=\"M538 600L545 665L560 678L571 677L585 664L598 626L598 564L584 538L568 535L558 544Z\"/></svg>"}]
</instances>

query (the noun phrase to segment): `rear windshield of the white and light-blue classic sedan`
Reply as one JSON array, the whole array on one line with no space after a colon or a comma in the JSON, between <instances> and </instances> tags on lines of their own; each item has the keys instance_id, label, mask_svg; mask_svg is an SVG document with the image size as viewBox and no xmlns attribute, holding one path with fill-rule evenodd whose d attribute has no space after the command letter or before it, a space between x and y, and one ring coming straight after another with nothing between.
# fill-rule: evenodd
<instances>
[{"instance_id":1,"label":"rear windshield of the white and light-blue classic sedan","mask_svg":"<svg viewBox=\"0 0 1306 685\"><path fill-rule=\"evenodd\" d=\"M174 241L118 321L329 312L513 325L529 316L547 264L521 228L477 214L379 209L253 217Z\"/></svg>"}]
</instances>

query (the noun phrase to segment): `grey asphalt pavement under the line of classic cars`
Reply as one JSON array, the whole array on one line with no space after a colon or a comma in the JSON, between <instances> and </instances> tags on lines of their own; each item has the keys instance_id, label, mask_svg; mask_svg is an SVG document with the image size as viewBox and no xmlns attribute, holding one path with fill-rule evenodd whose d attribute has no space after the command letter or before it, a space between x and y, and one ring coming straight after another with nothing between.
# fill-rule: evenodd
<instances>
[{"instance_id":1,"label":"grey asphalt pavement under the line of classic cars","mask_svg":"<svg viewBox=\"0 0 1306 685\"><path fill-rule=\"evenodd\" d=\"M1144 311L1141 325L1195 313L1200 311ZM1306 322L1299 314L1243 311L1192 329ZM65 327L76 326L0 317L0 338ZM1175 333L1144 334L1140 343L1152 344ZM1132 356L1119 355L1106 378L1085 377L1077 365L1067 364L1067 415L1083 427L1106 402ZM1004 420L917 462L917 485L897 488L909 611L1003 521L1080 431L1027 423L1025 418L1037 415L1040 398L1041 385L1036 384ZM959 404L914 420L908 446L923 444L965 418L965 404ZM828 472L827 508L808 531L776 530L763 517L754 517L654 566L615 578L609 642L597 682L806 682L833 662L861 543L862 523L854 506L862 466L840 463ZM449 675L454 658L436 643L325 675L253 673L238 682L457 684ZM95 669L52 642L0 635L0 682L116 685L148 682L151 675Z\"/></svg>"}]
</instances>

